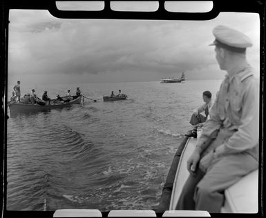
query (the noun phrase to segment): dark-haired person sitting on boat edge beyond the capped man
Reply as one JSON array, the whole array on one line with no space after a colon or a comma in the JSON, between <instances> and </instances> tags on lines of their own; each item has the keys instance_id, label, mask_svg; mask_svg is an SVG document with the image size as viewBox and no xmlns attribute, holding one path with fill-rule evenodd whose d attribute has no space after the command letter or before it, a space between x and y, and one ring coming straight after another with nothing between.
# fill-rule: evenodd
<instances>
[{"instance_id":1,"label":"dark-haired person sitting on boat edge beyond the capped man","mask_svg":"<svg viewBox=\"0 0 266 218\"><path fill-rule=\"evenodd\" d=\"M209 109L212 106L211 101L211 92L205 91L202 93L202 99L205 103L202 104L199 108L197 108L193 114L191 115L191 119L189 123L193 126L193 130L185 134L185 137L197 137L197 129L198 127L202 127L203 123L207 120L207 117L209 115ZM204 112L205 115L202 115L201 113Z\"/></svg>"}]
</instances>

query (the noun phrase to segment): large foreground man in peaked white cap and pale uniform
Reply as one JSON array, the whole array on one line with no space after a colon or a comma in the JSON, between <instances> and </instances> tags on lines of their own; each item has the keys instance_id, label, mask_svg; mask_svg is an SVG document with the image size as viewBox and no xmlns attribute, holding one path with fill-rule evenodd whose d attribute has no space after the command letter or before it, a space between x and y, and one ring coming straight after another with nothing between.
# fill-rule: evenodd
<instances>
[{"instance_id":1,"label":"large foreground man in peaked white cap and pale uniform","mask_svg":"<svg viewBox=\"0 0 266 218\"><path fill-rule=\"evenodd\" d=\"M190 175L176 210L220 212L225 189L258 169L258 81L246 59L251 40L226 26L216 26L213 35L211 46L227 75L187 161Z\"/></svg>"}]
</instances>

